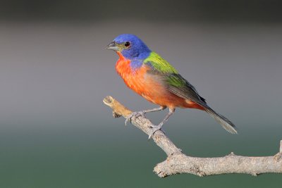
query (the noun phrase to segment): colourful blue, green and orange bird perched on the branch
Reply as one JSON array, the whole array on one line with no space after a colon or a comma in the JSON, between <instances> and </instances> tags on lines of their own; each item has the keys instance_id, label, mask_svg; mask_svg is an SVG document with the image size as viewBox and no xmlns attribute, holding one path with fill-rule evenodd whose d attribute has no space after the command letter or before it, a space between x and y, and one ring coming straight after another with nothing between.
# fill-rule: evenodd
<instances>
[{"instance_id":1,"label":"colourful blue, green and orange bird perched on the branch","mask_svg":"<svg viewBox=\"0 0 282 188\"><path fill-rule=\"evenodd\" d=\"M176 68L149 47L139 37L133 34L118 35L106 49L116 51L119 58L116 71L123 78L125 84L134 92L159 106L143 111L136 111L128 115L125 125L133 116L144 116L145 113L163 111L168 113L159 125L151 125L153 134L166 123L176 108L195 108L207 112L226 131L237 134L236 127L223 115L216 113L208 106L194 86L182 77ZM135 116L136 117L136 116Z\"/></svg>"}]
</instances>

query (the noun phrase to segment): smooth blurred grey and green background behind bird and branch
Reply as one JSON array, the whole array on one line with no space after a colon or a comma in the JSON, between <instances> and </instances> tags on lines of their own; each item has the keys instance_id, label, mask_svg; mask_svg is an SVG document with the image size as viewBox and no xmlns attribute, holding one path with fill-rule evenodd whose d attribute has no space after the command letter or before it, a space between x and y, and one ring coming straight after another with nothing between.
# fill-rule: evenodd
<instances>
[{"instance_id":1,"label":"smooth blurred grey and green background behind bird and branch","mask_svg":"<svg viewBox=\"0 0 282 188\"><path fill-rule=\"evenodd\" d=\"M154 105L116 74L105 46L133 33L238 126L178 109L164 130L190 156L278 152L280 1L1 1L0 187L280 187L281 175L175 175L165 153L102 104ZM148 114L154 123L166 112Z\"/></svg>"}]
</instances>

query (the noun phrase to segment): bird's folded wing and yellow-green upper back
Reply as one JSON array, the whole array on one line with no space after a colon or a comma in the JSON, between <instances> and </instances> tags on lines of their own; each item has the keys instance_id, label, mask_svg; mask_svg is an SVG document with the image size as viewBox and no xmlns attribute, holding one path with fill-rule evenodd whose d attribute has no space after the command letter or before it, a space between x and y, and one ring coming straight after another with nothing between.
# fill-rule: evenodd
<instances>
[{"instance_id":1,"label":"bird's folded wing and yellow-green upper back","mask_svg":"<svg viewBox=\"0 0 282 188\"><path fill-rule=\"evenodd\" d=\"M152 52L150 56L145 59L144 63L150 68L148 73L157 76L171 93L183 99L189 99L197 104L206 106L205 99L198 94L195 87L178 74L178 71L157 53Z\"/></svg>"}]
</instances>

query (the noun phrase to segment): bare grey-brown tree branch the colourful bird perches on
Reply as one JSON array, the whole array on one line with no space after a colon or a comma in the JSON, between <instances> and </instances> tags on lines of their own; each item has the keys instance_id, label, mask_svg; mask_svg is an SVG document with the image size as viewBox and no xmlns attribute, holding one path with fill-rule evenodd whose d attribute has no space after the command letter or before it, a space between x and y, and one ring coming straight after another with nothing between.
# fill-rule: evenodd
<instances>
[{"instance_id":1,"label":"bare grey-brown tree branch the colourful bird perches on","mask_svg":"<svg viewBox=\"0 0 282 188\"><path fill-rule=\"evenodd\" d=\"M111 96L106 96L103 102L113 109L114 118L120 116L126 118L132 113ZM148 135L151 132L150 125L152 123L145 117L133 116L132 123ZM182 153L181 149L178 149L161 130L155 132L152 139L168 156L166 161L154 167L154 172L159 177L181 173L199 176L229 173L245 173L257 176L262 173L282 173L282 141L280 142L280 151L274 156L237 156L230 153L223 157L198 158L186 156Z\"/></svg>"}]
</instances>

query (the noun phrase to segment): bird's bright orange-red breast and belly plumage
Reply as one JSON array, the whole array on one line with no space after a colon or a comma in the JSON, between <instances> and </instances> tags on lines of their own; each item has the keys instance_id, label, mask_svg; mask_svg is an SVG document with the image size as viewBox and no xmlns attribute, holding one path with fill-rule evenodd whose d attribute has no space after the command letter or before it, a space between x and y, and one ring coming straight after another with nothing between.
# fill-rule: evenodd
<instances>
[{"instance_id":1,"label":"bird's bright orange-red breast and belly plumage","mask_svg":"<svg viewBox=\"0 0 282 188\"><path fill-rule=\"evenodd\" d=\"M117 52L117 54L119 59L116 62L116 71L123 78L125 84L137 94L140 94L154 104L167 106L171 109L180 107L204 110L199 104L169 92L164 87L164 84L161 84L157 75L147 74L148 66L142 65L140 68L133 70L130 67L130 60L123 57L120 52Z\"/></svg>"}]
</instances>

